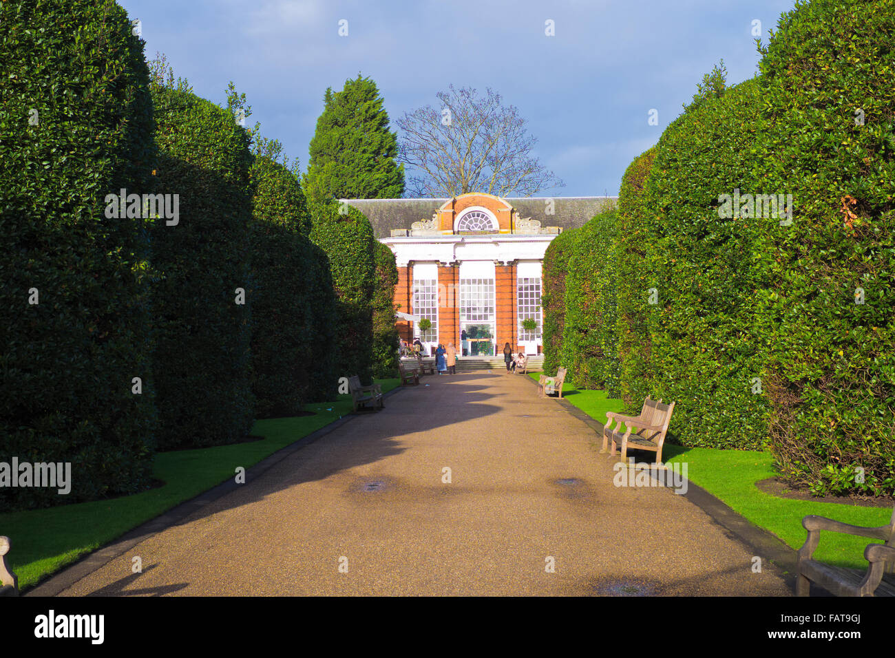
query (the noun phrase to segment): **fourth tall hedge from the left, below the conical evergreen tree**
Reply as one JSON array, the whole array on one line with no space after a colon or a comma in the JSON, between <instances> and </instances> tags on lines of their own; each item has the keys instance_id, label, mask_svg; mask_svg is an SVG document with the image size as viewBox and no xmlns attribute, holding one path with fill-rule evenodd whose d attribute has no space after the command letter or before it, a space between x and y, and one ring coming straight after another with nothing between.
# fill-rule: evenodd
<instances>
[{"instance_id":1,"label":"fourth tall hedge from the left, below the conical evergreen tree","mask_svg":"<svg viewBox=\"0 0 895 658\"><path fill-rule=\"evenodd\" d=\"M311 241L326 252L337 295L337 377L372 376L376 240L370 220L338 201L311 203Z\"/></svg>"}]
</instances>

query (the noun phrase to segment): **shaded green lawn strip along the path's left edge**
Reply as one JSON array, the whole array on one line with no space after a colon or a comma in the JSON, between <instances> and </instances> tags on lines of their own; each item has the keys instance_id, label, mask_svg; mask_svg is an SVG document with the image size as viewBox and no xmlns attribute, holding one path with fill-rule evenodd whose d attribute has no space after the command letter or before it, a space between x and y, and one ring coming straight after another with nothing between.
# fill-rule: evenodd
<instances>
[{"instance_id":1,"label":"shaded green lawn strip along the path's left edge","mask_svg":"<svg viewBox=\"0 0 895 658\"><path fill-rule=\"evenodd\" d=\"M400 380L377 380L384 392ZM264 440L230 446L158 453L153 474L164 486L111 500L62 505L0 514L0 534L12 543L9 560L20 587L34 585L150 518L234 477L237 466L248 468L278 449L351 413L351 397L306 405L314 415L258 421L252 434Z\"/></svg>"}]
</instances>

